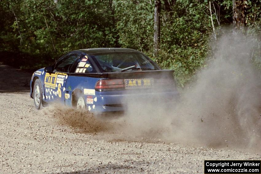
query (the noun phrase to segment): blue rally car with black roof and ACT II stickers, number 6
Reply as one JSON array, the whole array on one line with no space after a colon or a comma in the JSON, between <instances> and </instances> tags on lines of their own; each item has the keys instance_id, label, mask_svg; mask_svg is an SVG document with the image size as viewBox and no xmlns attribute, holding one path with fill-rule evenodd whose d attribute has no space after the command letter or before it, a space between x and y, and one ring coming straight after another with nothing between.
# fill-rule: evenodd
<instances>
[{"instance_id":1,"label":"blue rally car with black roof and ACT II stickers, number 6","mask_svg":"<svg viewBox=\"0 0 261 174\"><path fill-rule=\"evenodd\" d=\"M173 71L162 70L142 52L127 48L69 52L34 72L30 88L38 110L60 102L94 114L124 111L124 99L160 97L167 102L178 96Z\"/></svg>"}]
</instances>

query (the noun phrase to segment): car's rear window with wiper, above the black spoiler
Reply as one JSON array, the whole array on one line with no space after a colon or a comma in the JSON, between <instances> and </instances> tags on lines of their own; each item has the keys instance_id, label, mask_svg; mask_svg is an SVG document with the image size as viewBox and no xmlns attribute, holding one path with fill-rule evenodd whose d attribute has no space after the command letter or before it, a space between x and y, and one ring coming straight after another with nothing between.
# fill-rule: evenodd
<instances>
[{"instance_id":1,"label":"car's rear window with wiper, above the black spoiler","mask_svg":"<svg viewBox=\"0 0 261 174\"><path fill-rule=\"evenodd\" d=\"M141 52L101 52L91 56L101 72L159 70L157 65Z\"/></svg>"}]
</instances>

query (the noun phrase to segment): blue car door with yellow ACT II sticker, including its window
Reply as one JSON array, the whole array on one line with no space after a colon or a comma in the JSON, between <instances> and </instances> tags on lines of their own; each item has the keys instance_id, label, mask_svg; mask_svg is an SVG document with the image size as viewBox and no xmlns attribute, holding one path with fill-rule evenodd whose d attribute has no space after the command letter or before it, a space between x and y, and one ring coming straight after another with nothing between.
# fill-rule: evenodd
<instances>
[{"instance_id":1,"label":"blue car door with yellow ACT II sticker, including its window","mask_svg":"<svg viewBox=\"0 0 261 174\"><path fill-rule=\"evenodd\" d=\"M44 91L46 101L65 100L65 85L72 65L78 59L80 53L70 52L58 60L52 73L45 74Z\"/></svg>"}]
</instances>

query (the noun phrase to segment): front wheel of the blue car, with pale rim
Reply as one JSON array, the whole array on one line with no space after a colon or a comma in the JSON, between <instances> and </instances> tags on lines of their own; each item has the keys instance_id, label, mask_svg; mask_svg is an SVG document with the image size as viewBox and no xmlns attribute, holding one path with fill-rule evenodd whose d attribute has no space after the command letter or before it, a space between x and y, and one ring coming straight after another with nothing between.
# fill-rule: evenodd
<instances>
[{"instance_id":1,"label":"front wheel of the blue car, with pale rim","mask_svg":"<svg viewBox=\"0 0 261 174\"><path fill-rule=\"evenodd\" d=\"M42 85L40 79L36 79L33 85L33 101L37 110L43 108L42 105Z\"/></svg>"}]
</instances>

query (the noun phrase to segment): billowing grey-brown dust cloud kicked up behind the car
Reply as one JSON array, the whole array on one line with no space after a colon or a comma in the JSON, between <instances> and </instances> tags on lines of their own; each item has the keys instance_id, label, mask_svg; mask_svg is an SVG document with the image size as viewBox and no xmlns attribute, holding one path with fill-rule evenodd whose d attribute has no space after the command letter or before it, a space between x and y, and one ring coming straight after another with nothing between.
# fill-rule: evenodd
<instances>
[{"instance_id":1,"label":"billowing grey-brown dust cloud kicked up behind the car","mask_svg":"<svg viewBox=\"0 0 261 174\"><path fill-rule=\"evenodd\" d=\"M214 148L261 145L261 78L252 64L254 38L226 32L214 41L213 55L180 99L128 99L122 117L94 118L88 111L55 110L59 123L83 133L107 132L114 138L156 138ZM164 78L164 77L162 77ZM151 91L153 92L153 91ZM174 104L175 103L175 104ZM88 115L88 116L86 116ZM110 135L109 135L110 134Z\"/></svg>"}]
</instances>

